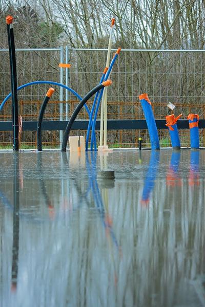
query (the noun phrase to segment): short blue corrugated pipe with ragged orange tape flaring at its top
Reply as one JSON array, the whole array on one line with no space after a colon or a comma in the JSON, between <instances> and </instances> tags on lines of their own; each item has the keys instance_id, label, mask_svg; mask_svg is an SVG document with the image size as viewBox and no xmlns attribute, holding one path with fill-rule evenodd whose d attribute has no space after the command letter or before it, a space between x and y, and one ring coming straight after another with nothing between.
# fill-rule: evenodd
<instances>
[{"instance_id":1,"label":"short blue corrugated pipe with ragged orange tape flaring at its top","mask_svg":"<svg viewBox=\"0 0 205 307\"><path fill-rule=\"evenodd\" d=\"M181 117L181 115L182 114L180 114L176 118L174 114L166 116L166 120L167 120L166 126L169 128L169 133L170 133L170 138L171 138L173 149L181 148L180 140L179 140L179 133L178 133L177 124L176 124L177 120Z\"/></svg>"}]
</instances>

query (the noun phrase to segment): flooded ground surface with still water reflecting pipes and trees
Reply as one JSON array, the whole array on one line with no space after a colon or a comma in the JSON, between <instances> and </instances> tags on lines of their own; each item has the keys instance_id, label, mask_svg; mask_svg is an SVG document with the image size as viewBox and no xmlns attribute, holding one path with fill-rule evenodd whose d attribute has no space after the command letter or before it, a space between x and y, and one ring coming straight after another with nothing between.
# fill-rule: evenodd
<instances>
[{"instance_id":1,"label":"flooded ground surface with still water reflecting pipes and trees","mask_svg":"<svg viewBox=\"0 0 205 307\"><path fill-rule=\"evenodd\" d=\"M0 306L205 305L205 150L0 165Z\"/></svg>"}]
</instances>

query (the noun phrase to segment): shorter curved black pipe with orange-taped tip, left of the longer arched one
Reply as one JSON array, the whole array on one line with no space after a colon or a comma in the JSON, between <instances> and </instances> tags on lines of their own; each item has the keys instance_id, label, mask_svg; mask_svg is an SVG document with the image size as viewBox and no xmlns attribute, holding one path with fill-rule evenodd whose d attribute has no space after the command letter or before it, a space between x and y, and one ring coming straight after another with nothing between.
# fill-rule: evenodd
<instances>
[{"instance_id":1,"label":"shorter curved black pipe with orange-taped tip, left of the longer arched one","mask_svg":"<svg viewBox=\"0 0 205 307\"><path fill-rule=\"evenodd\" d=\"M50 87L50 89L46 93L42 106L40 107L38 123L37 123L37 150L38 151L42 151L42 121L43 121L44 113L46 110L46 106L54 92L55 90L53 89L53 87Z\"/></svg>"}]
</instances>

